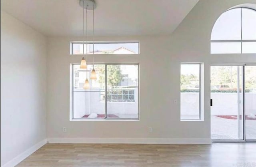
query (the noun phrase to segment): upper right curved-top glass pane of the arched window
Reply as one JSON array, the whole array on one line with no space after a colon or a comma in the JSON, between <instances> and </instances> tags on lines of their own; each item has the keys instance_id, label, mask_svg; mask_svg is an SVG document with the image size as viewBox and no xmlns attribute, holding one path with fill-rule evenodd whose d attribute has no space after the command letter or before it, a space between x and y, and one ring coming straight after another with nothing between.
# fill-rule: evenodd
<instances>
[{"instance_id":1,"label":"upper right curved-top glass pane of the arched window","mask_svg":"<svg viewBox=\"0 0 256 167\"><path fill-rule=\"evenodd\" d=\"M242 8L242 40L256 40L255 10Z\"/></svg>"}]
</instances>

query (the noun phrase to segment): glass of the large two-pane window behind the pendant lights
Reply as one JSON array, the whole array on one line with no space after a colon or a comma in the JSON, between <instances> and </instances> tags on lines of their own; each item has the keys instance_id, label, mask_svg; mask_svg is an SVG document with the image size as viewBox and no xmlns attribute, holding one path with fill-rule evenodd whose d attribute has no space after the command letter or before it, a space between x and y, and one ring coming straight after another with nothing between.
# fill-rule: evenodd
<instances>
[{"instance_id":1,"label":"glass of the large two-pane window behind the pendant lights","mask_svg":"<svg viewBox=\"0 0 256 167\"><path fill-rule=\"evenodd\" d=\"M87 66L88 78L92 65ZM138 64L95 64L97 80L72 64L71 119L138 119Z\"/></svg>"}]
</instances>

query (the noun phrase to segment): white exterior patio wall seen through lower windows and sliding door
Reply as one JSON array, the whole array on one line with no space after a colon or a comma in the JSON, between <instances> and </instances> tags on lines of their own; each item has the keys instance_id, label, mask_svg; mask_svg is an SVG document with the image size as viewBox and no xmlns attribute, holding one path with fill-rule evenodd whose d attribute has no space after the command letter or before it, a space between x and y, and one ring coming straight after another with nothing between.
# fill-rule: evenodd
<instances>
[{"instance_id":1,"label":"white exterior patio wall seen through lower windows and sliding door","mask_svg":"<svg viewBox=\"0 0 256 167\"><path fill-rule=\"evenodd\" d=\"M138 113L138 88L126 88L122 90L121 96L118 97L118 91L111 94L116 97L107 99L108 114L137 114ZM133 92L132 92L132 91ZM130 91L131 94L127 94ZM116 93L117 92L117 93ZM133 93L133 94L132 94ZM74 92L74 118L80 118L90 113L104 114L105 101L102 98L102 91L94 89L93 92L75 91ZM124 97L127 96L128 97ZM132 95L129 99L129 95ZM256 115L256 92L245 94L246 98L246 115L252 113ZM109 97L110 98L110 97ZM128 98L128 99L127 99ZM238 111L238 96L237 93L211 93L213 106L211 107L211 115L237 115ZM120 100L120 101L118 101ZM130 101L129 101L130 100ZM197 115L199 111L199 93L184 92L180 95L181 113L182 115ZM240 93L240 111L242 111L242 93Z\"/></svg>"}]
</instances>

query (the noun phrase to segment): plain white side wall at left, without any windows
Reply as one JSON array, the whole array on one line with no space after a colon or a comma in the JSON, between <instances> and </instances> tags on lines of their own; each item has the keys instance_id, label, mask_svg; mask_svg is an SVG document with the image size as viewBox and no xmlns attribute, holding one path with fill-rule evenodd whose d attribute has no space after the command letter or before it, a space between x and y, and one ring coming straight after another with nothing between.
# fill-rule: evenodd
<instances>
[{"instance_id":1,"label":"plain white side wall at left, without any windows","mask_svg":"<svg viewBox=\"0 0 256 167\"><path fill-rule=\"evenodd\" d=\"M46 138L46 38L1 10L1 166Z\"/></svg>"}]
</instances>

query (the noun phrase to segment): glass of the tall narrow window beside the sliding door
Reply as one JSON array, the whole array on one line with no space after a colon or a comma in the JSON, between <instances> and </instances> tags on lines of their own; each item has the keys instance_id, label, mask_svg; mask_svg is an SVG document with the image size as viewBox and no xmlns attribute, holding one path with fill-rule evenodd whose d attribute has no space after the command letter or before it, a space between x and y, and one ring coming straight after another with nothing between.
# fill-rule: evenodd
<instances>
[{"instance_id":1,"label":"glass of the tall narrow window beside the sliding door","mask_svg":"<svg viewBox=\"0 0 256 167\"><path fill-rule=\"evenodd\" d=\"M180 119L200 119L200 64L180 65Z\"/></svg>"}]
</instances>

